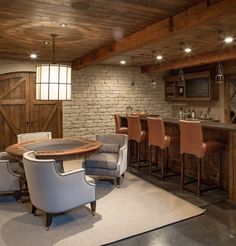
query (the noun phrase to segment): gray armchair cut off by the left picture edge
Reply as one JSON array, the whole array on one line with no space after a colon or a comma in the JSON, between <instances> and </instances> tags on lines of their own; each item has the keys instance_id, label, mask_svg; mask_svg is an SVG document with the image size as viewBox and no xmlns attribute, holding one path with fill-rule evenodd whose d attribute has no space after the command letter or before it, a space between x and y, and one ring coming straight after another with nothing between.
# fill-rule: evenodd
<instances>
[{"instance_id":1,"label":"gray armchair cut off by the left picture edge","mask_svg":"<svg viewBox=\"0 0 236 246\"><path fill-rule=\"evenodd\" d=\"M20 175L13 172L6 152L0 153L0 192L13 193L16 200L21 198Z\"/></svg>"}]
</instances>

